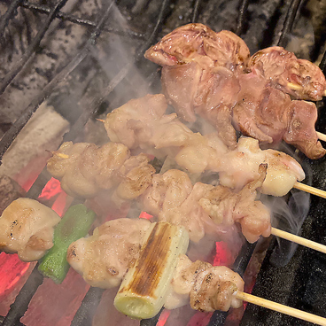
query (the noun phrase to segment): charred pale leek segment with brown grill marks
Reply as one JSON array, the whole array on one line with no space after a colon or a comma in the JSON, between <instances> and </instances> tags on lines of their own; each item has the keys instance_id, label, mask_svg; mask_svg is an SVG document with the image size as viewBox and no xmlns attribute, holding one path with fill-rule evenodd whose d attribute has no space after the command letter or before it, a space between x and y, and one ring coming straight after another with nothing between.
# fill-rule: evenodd
<instances>
[{"instance_id":1,"label":"charred pale leek segment with brown grill marks","mask_svg":"<svg viewBox=\"0 0 326 326\"><path fill-rule=\"evenodd\" d=\"M167 222L155 223L135 265L128 269L114 306L131 318L147 319L164 305L177 260L187 251L188 232Z\"/></svg>"}]
</instances>

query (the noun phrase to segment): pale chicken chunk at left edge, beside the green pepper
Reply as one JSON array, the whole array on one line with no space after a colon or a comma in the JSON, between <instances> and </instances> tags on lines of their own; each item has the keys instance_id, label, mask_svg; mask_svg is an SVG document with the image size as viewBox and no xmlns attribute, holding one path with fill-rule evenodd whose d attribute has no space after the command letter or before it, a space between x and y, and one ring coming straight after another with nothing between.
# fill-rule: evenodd
<instances>
[{"instance_id":1,"label":"pale chicken chunk at left edge, beside the green pepper","mask_svg":"<svg viewBox=\"0 0 326 326\"><path fill-rule=\"evenodd\" d=\"M39 260L53 246L57 213L34 199L19 198L0 217L0 250L23 261Z\"/></svg>"}]
</instances>

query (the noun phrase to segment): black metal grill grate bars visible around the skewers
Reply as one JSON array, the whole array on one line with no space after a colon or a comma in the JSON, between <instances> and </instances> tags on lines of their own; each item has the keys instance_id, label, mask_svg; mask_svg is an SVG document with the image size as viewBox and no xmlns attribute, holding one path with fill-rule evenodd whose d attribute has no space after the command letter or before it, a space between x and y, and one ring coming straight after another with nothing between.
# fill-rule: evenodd
<instances>
[{"instance_id":1,"label":"black metal grill grate bars visible around the skewers","mask_svg":"<svg viewBox=\"0 0 326 326\"><path fill-rule=\"evenodd\" d=\"M289 9L286 14L286 18L284 19L283 23L283 30L282 34L280 35L278 45L285 46L287 43L286 36L291 32L291 27L293 25L294 19L296 14L299 10L300 0L292 0L291 4L289 5ZM64 137L64 141L74 140L78 136L81 128L86 124L89 120L89 117L94 116L99 107L103 105L105 99L113 92L113 89L117 87L117 85L124 80L131 71L131 66L134 63L139 63L141 58L143 58L144 50L147 50L149 46L156 41L160 31L162 30L164 24L166 24L169 16L171 15L171 6L175 5L175 2L164 0L160 6L159 15L156 19L155 27L152 29L151 33L143 34L139 32L135 32L133 30L124 30L121 31L119 28L116 27L108 27L105 25L105 19L107 19L109 12L112 9L113 2L111 2L106 9L102 19L96 24L92 20L89 19L81 19L74 15L67 14L66 12L61 12L61 8L66 4L66 0L58 1L58 3L53 6L46 6L43 4L33 4L28 1L22 0L15 0L13 1L10 6L8 7L7 12L4 13L2 18L0 19L0 30L4 31L5 27L8 25L10 19L13 19L15 13L19 6L31 10L33 12L38 12L41 14L46 14L47 19L43 23L43 27L39 31L39 33L35 36L35 39L29 44L26 52L24 53L23 57L16 66L12 69L10 74L6 75L4 79L1 81L0 86L0 94L4 92L4 89L10 85L12 80L16 77L17 74L23 69L26 65L27 61L33 57L35 51L39 47L40 42L43 40L43 35L46 33L48 28L50 27L51 22L54 19L62 19L66 21L70 21L74 24L79 24L85 27L93 28L93 32L91 33L89 40L85 43L83 49L77 54L70 63L64 67L59 74L57 74L49 84L43 89L43 91L35 97L35 99L27 106L24 110L24 113L16 120L12 128L10 128L4 137L0 140L0 159L2 159L4 152L9 148L12 144L13 140L18 136L20 130L26 125L27 121L31 118L32 114L35 113L38 106L43 102L45 98L48 98L53 90L58 86L58 84L66 79L66 77L74 70L76 66L78 66L84 58L86 58L89 54L89 51L92 49L94 44L97 42L97 38L102 32L110 32L116 35L120 35L123 37L128 38L137 38L142 45L136 50L136 54L134 56L134 61L131 62L128 66L125 66L118 74L116 74L108 86L105 88L104 93L101 97L97 97L93 100L93 102L89 105L88 109L82 113L82 115L74 121L73 126L70 128L70 131ZM200 17L201 12L205 12L206 4L201 4L200 0L195 0L191 4L191 14L190 14L190 21L196 22ZM250 6L249 0L242 0L239 7L239 15L237 19L237 27L235 27L235 31L237 35L243 35L245 33L245 26L248 23L247 19L250 16L248 14L248 8ZM176 26L175 26L176 27ZM4 35L4 34L2 34ZM3 40L2 40L3 42ZM323 56L321 67L322 69L326 66L326 55ZM154 80L157 78L158 75L153 73L153 75L148 80ZM41 176L40 176L41 178ZM45 184L45 180L41 180L43 185ZM35 184L38 183L37 181ZM39 189L39 183L37 186L32 186L31 190L28 191L29 197L35 197L37 193L37 189ZM320 203L318 202L318 205ZM240 275L243 275L245 269L248 265L250 258L252 257L252 252L255 245L244 245L242 252L240 253L238 260L235 263L235 269ZM266 264L267 266L268 263ZM268 267L267 267L268 268ZM2 323L5 326L10 325L19 325L20 317L25 313L27 310L27 306L29 301L32 299L35 291L37 290L38 286L43 283L43 277L37 271L37 266L32 272L32 275L27 280L27 283L24 285L23 289L19 292L17 299L12 304L10 312L4 318L4 322ZM90 288L89 292L85 296L84 300L82 301L82 306L79 308L77 314L75 314L74 321L72 324L74 326L77 325L88 325L91 323L91 316L92 312L94 313L95 307L99 303L101 299L103 291L100 289ZM250 311L251 305L248 306L247 311ZM250 313L249 313L250 314ZM218 326L222 325L225 322L226 318L225 313L215 312L212 316L211 321L209 322L210 326ZM246 314L248 315L248 314ZM151 320L142 321L142 326L151 326L156 325L157 317Z\"/></svg>"}]
</instances>

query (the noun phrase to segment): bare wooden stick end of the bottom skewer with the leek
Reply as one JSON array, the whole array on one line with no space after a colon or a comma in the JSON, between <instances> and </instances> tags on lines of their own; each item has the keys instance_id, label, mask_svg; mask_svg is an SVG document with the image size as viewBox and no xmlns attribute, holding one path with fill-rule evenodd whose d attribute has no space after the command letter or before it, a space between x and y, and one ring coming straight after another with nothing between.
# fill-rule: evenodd
<instances>
[{"instance_id":1,"label":"bare wooden stick end of the bottom skewer with the leek","mask_svg":"<svg viewBox=\"0 0 326 326\"><path fill-rule=\"evenodd\" d=\"M288 314L291 315L292 317L296 317L307 322L314 322L317 325L322 325L322 326L326 325L326 318L323 318L316 314L309 314L302 310L284 306L274 301L262 299L252 294L241 292L241 291L237 291L234 295L236 296L237 299L245 300L247 302L250 302L260 307L265 307L271 310L275 310L282 314Z\"/></svg>"}]
</instances>

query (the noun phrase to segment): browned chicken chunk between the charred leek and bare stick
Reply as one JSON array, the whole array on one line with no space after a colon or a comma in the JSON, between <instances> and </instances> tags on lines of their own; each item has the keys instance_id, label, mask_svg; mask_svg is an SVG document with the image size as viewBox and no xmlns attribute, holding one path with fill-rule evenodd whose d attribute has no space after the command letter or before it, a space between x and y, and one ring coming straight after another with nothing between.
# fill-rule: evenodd
<instances>
[{"instance_id":1,"label":"browned chicken chunk between the charred leek and bare stick","mask_svg":"<svg viewBox=\"0 0 326 326\"><path fill-rule=\"evenodd\" d=\"M182 307L189 301L193 309L203 312L242 306L242 300L233 294L244 291L244 280L224 266L212 266L200 260L192 262L181 255L171 284L165 303L167 309Z\"/></svg>"}]
</instances>

